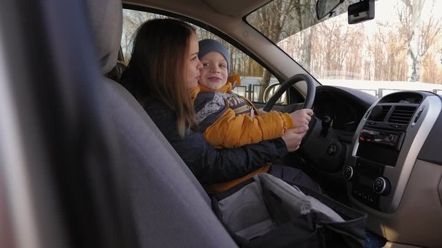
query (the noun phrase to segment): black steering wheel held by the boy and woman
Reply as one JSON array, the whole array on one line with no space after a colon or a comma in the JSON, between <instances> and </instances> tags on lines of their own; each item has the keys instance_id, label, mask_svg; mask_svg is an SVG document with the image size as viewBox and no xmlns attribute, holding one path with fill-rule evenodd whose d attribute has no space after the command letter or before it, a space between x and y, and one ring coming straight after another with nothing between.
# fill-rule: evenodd
<instances>
[{"instance_id":1,"label":"black steering wheel held by the boy and woman","mask_svg":"<svg viewBox=\"0 0 442 248\"><path fill-rule=\"evenodd\" d=\"M280 96L282 96L282 93L300 81L307 83L307 94L302 108L313 107L316 92L316 85L313 79L307 74L296 74L280 85L263 110L269 112ZM312 116L309 123L309 131L302 138L299 150L320 171L334 173L339 172L343 168L346 147L340 143L330 124L331 120L329 118L327 120L320 120L316 116Z\"/></svg>"}]
</instances>

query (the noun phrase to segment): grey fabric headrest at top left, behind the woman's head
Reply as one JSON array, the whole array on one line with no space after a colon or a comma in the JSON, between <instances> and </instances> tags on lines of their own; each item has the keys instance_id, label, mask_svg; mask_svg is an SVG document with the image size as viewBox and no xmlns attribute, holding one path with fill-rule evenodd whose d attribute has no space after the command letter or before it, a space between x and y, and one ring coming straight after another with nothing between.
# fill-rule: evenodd
<instances>
[{"instance_id":1,"label":"grey fabric headrest at top left, behind the woman's head","mask_svg":"<svg viewBox=\"0 0 442 248\"><path fill-rule=\"evenodd\" d=\"M110 72L117 64L122 39L122 1L86 0L95 50L102 74Z\"/></svg>"}]
</instances>

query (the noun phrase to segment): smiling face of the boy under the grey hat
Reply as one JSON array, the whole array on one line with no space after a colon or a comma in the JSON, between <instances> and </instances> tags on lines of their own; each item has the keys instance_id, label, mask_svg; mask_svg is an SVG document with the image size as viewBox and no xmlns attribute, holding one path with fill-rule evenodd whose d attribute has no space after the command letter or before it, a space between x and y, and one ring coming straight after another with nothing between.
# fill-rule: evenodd
<instances>
[{"instance_id":1,"label":"smiling face of the boy under the grey hat","mask_svg":"<svg viewBox=\"0 0 442 248\"><path fill-rule=\"evenodd\" d=\"M201 58L202 69L200 84L211 90L218 90L226 85L229 72L227 61L219 52L209 52Z\"/></svg>"}]
</instances>

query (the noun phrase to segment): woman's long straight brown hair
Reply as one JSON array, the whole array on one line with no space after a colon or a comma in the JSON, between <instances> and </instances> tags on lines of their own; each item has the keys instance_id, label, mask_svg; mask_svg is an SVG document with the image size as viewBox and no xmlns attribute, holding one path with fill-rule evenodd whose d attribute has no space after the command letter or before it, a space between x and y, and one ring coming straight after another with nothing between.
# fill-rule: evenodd
<instances>
[{"instance_id":1,"label":"woman's long straight brown hair","mask_svg":"<svg viewBox=\"0 0 442 248\"><path fill-rule=\"evenodd\" d=\"M186 84L189 41L195 29L175 19L153 19L138 29L128 64L129 90L144 103L149 95L177 116L181 136L197 125Z\"/></svg>"}]
</instances>

